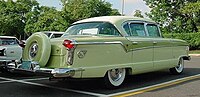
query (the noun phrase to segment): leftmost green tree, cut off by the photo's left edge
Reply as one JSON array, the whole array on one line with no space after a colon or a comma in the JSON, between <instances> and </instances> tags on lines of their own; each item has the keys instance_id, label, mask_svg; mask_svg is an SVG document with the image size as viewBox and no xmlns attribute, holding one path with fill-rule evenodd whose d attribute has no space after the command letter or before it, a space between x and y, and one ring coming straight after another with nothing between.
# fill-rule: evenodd
<instances>
[{"instance_id":1,"label":"leftmost green tree, cut off by the photo's left edge","mask_svg":"<svg viewBox=\"0 0 200 97\"><path fill-rule=\"evenodd\" d=\"M1 35L13 35L21 38L25 28L25 14L39 4L35 0L0 0Z\"/></svg>"}]
</instances>

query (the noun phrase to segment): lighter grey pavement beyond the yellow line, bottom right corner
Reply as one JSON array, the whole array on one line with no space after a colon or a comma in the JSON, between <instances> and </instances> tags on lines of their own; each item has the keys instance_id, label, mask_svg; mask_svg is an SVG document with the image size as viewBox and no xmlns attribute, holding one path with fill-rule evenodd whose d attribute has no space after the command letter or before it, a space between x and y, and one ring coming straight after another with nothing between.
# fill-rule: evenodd
<instances>
[{"instance_id":1,"label":"lighter grey pavement beyond the yellow line, bottom right corner","mask_svg":"<svg viewBox=\"0 0 200 97\"><path fill-rule=\"evenodd\" d=\"M132 97L200 97L200 80L145 92Z\"/></svg>"}]
</instances>

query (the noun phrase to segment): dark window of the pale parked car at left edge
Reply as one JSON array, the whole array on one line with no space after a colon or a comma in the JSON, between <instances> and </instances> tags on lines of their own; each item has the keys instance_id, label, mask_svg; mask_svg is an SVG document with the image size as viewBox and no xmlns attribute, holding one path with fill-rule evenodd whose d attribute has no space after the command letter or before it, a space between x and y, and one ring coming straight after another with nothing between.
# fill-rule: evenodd
<instances>
[{"instance_id":1,"label":"dark window of the pale parked car at left edge","mask_svg":"<svg viewBox=\"0 0 200 97\"><path fill-rule=\"evenodd\" d=\"M0 45L16 45L18 44L15 38L0 38Z\"/></svg>"}]
</instances>

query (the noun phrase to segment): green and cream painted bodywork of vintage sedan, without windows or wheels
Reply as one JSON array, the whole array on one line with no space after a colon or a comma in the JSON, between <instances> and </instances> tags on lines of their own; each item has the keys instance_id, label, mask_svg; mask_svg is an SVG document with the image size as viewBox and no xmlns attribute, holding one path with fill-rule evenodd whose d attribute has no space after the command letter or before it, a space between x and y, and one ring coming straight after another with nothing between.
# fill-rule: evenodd
<instances>
[{"instance_id":1,"label":"green and cream painted bodywork of vintage sedan, without windows or wheels","mask_svg":"<svg viewBox=\"0 0 200 97\"><path fill-rule=\"evenodd\" d=\"M52 52L47 67L73 68L77 70L74 78L104 77L108 70L126 68L131 74L145 73L171 68L177 65L180 57L188 56L187 43L177 39L160 37L128 36L123 28L126 22L155 24L146 19L132 17L100 17L74 23L109 22L122 36L63 36L51 40ZM148 34L147 32L145 32ZM64 39L75 40L73 64L67 61L68 50L62 46ZM79 57L79 53L83 57Z\"/></svg>"}]
</instances>

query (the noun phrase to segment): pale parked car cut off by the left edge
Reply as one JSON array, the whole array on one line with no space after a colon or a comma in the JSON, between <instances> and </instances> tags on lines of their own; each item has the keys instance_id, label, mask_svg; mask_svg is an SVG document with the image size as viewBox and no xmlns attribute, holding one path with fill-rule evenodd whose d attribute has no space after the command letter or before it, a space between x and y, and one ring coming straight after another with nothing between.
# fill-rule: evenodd
<instances>
[{"instance_id":1,"label":"pale parked car cut off by the left edge","mask_svg":"<svg viewBox=\"0 0 200 97\"><path fill-rule=\"evenodd\" d=\"M23 44L13 36L0 36L0 67L11 62L20 62Z\"/></svg>"}]
</instances>

